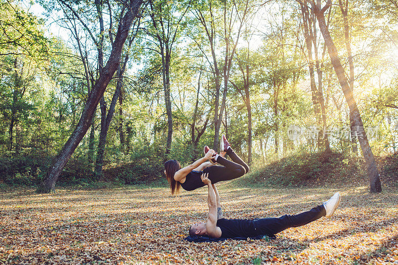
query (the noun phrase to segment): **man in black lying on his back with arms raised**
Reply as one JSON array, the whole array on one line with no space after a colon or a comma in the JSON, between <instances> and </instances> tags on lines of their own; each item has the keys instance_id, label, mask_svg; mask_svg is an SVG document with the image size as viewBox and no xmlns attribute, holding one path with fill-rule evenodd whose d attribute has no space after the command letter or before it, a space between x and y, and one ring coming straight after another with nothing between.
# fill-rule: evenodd
<instances>
[{"instance_id":1,"label":"man in black lying on his back with arms raised","mask_svg":"<svg viewBox=\"0 0 398 265\"><path fill-rule=\"evenodd\" d=\"M283 215L279 218L247 219L225 219L220 207L220 198L217 188L211 184L211 180L205 174L201 175L203 183L207 185L208 195L208 219L205 223L196 223L190 227L190 236L207 236L211 238L235 238L256 237L267 235L275 237L275 234L290 228L298 227L315 221L322 216L330 217L340 204L338 192L321 205L309 211L296 215Z\"/></svg>"}]
</instances>

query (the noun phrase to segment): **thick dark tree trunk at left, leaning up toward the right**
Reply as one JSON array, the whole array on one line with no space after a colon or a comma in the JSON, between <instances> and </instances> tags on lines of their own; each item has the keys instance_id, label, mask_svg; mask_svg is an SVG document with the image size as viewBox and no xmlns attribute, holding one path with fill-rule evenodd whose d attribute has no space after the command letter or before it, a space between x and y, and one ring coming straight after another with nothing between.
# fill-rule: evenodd
<instances>
[{"instance_id":1,"label":"thick dark tree trunk at left, leaning up toward the right","mask_svg":"<svg viewBox=\"0 0 398 265\"><path fill-rule=\"evenodd\" d=\"M103 92L105 91L109 81L112 79L113 74L116 72L116 69L120 64L120 57L124 42L128 36L133 19L136 17L142 4L142 0L130 0L129 2L130 4L128 8L126 8L126 13L124 14L123 18L120 19L109 60L102 68L100 77L87 99L79 123L72 135L69 137L68 141L65 143L61 152L59 152L54 158L50 169L37 189L38 192L48 193L54 188L55 182L61 175L63 168L65 167L66 163L68 163L76 147L82 141L84 135L91 126L94 112L98 103L100 102Z\"/></svg>"}]
</instances>

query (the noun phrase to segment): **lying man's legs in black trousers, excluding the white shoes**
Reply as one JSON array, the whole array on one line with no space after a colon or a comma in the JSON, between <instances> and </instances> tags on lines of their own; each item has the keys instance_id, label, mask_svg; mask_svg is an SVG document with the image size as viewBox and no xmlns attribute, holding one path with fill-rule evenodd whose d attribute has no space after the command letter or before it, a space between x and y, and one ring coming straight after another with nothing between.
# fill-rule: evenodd
<instances>
[{"instance_id":1,"label":"lying man's legs in black trousers, excluding the white shoes","mask_svg":"<svg viewBox=\"0 0 398 265\"><path fill-rule=\"evenodd\" d=\"M257 235L274 236L287 228L308 224L325 215L326 210L322 204L296 215L285 214L279 218L256 219L254 220L254 228Z\"/></svg>"}]
</instances>

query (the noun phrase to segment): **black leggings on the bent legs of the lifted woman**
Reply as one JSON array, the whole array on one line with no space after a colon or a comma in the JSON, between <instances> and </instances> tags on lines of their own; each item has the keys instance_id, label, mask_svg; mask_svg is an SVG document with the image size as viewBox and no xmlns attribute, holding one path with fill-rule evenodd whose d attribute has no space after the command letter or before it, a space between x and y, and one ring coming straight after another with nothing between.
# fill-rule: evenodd
<instances>
[{"instance_id":1,"label":"black leggings on the bent legs of the lifted woman","mask_svg":"<svg viewBox=\"0 0 398 265\"><path fill-rule=\"evenodd\" d=\"M208 178L213 184L222 180L230 180L237 177L242 177L249 172L249 166L243 162L243 160L237 154L235 154L235 152L233 152L232 148L228 148L226 153L232 159L232 161L220 156L217 158L217 163L223 165L224 167L211 166L203 170L203 173L208 173Z\"/></svg>"}]
</instances>

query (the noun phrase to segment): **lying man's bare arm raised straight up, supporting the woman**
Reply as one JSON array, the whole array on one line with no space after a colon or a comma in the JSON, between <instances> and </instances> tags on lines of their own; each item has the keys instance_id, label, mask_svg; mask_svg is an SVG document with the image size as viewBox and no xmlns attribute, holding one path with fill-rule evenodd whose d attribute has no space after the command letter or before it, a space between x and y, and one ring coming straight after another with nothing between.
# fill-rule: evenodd
<instances>
[{"instance_id":1,"label":"lying man's bare arm raised straight up, supporting the woman","mask_svg":"<svg viewBox=\"0 0 398 265\"><path fill-rule=\"evenodd\" d=\"M202 174L201 179L207 185L208 219L206 222L207 235L213 238L221 237L221 229L217 227L217 200L213 185L207 175Z\"/></svg>"}]
</instances>

